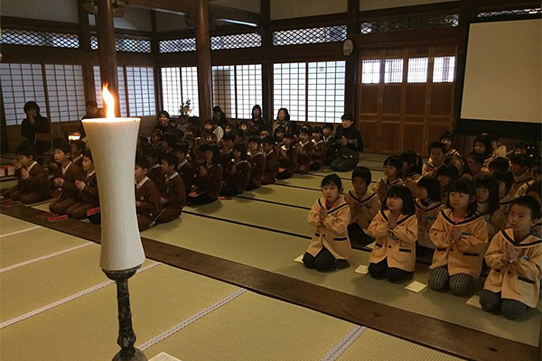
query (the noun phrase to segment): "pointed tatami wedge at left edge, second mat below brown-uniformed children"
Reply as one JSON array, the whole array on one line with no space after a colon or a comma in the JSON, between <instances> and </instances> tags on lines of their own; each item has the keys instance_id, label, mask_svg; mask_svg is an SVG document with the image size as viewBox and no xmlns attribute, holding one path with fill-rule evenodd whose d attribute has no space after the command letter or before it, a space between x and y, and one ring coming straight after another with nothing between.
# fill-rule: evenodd
<instances>
[{"instance_id":1,"label":"pointed tatami wedge at left edge, second mat below brown-uniformed children","mask_svg":"<svg viewBox=\"0 0 542 361\"><path fill-rule=\"evenodd\" d=\"M35 227L35 226L34 226ZM84 245L81 238L39 227L0 240L0 268Z\"/></svg>"}]
</instances>

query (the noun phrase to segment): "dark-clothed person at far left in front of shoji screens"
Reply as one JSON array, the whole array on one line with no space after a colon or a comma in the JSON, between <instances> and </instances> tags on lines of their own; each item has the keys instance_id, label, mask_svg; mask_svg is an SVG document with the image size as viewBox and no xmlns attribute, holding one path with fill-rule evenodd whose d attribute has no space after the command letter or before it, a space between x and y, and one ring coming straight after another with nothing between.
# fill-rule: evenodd
<instances>
[{"instance_id":1,"label":"dark-clothed person at far left in front of shoji screens","mask_svg":"<svg viewBox=\"0 0 542 361\"><path fill-rule=\"evenodd\" d=\"M36 135L51 134L51 123L49 119L40 114L40 106L36 102L26 102L23 109L26 117L21 123L21 135L26 138L28 143L35 145L36 154L43 154L51 148L51 142L40 140L40 136Z\"/></svg>"}]
</instances>

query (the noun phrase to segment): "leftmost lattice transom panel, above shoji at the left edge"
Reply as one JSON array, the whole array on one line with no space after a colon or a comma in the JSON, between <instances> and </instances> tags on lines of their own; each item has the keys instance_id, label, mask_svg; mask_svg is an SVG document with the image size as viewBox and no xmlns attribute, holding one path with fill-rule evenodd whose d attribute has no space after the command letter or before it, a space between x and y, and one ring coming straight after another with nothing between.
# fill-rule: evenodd
<instances>
[{"instance_id":1,"label":"leftmost lattice transom panel, above shoji at the left edge","mask_svg":"<svg viewBox=\"0 0 542 361\"><path fill-rule=\"evenodd\" d=\"M14 45L50 46L53 48L79 48L77 34L61 32L3 29L0 42Z\"/></svg>"}]
</instances>

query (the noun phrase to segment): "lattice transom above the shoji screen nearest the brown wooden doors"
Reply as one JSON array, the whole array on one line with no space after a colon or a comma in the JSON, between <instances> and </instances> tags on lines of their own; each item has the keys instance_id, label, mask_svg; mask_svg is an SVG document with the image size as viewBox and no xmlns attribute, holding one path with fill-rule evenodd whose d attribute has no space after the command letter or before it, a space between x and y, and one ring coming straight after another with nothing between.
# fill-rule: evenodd
<instances>
[{"instance_id":1,"label":"lattice transom above the shoji screen nearest the brown wooden doors","mask_svg":"<svg viewBox=\"0 0 542 361\"><path fill-rule=\"evenodd\" d=\"M344 42L345 40L346 25L273 32L273 45L276 46L313 44L319 42Z\"/></svg>"}]
</instances>

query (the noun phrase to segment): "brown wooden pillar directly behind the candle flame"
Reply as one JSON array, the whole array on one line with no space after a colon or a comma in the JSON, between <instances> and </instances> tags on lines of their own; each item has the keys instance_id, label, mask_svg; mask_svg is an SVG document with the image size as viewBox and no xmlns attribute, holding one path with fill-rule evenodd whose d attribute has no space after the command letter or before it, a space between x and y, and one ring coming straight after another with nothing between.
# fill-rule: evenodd
<instances>
[{"instance_id":1,"label":"brown wooden pillar directly behind the candle flame","mask_svg":"<svg viewBox=\"0 0 542 361\"><path fill-rule=\"evenodd\" d=\"M98 59L102 88L107 84L107 89L115 97L115 116L120 116L117 49L115 46L115 25L113 24L113 5L111 4L111 0L98 0L96 23L98 25Z\"/></svg>"}]
</instances>

